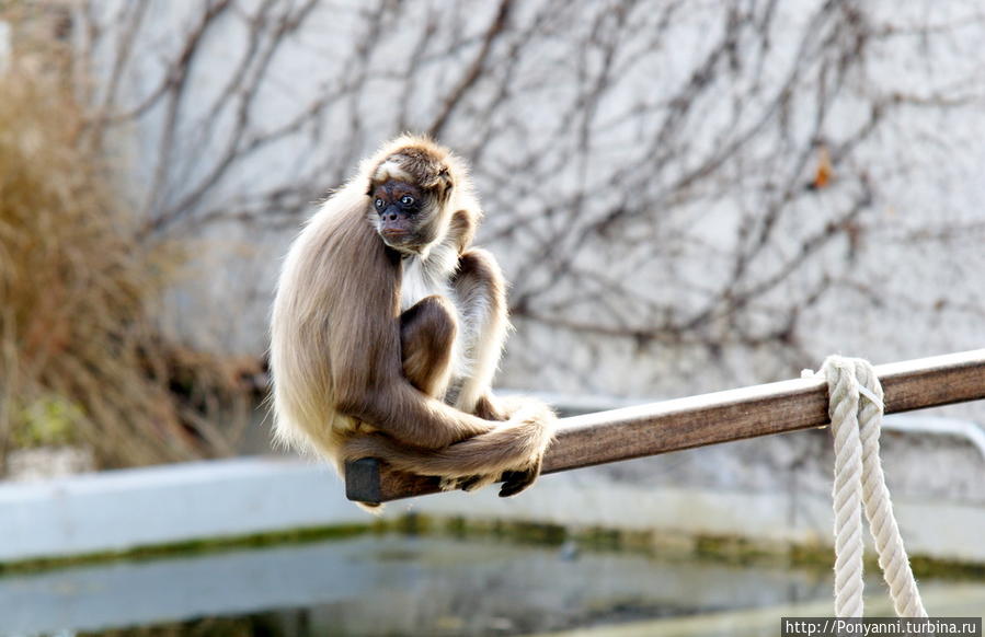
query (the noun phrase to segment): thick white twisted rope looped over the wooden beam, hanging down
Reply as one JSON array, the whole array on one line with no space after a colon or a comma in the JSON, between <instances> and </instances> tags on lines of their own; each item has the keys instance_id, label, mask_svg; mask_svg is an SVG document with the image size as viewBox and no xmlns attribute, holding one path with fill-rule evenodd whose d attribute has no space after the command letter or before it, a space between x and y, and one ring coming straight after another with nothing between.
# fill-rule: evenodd
<instances>
[{"instance_id":1,"label":"thick white twisted rope looped over the wooden beam, hanging down","mask_svg":"<svg viewBox=\"0 0 985 637\"><path fill-rule=\"evenodd\" d=\"M827 379L835 441L835 616L862 616L862 522L879 553L896 615L926 617L909 558L893 516L890 490L879 459L883 393L872 366L862 359L831 356L821 368ZM801 375L811 375L804 370ZM864 397L861 401L860 397Z\"/></svg>"}]
</instances>

